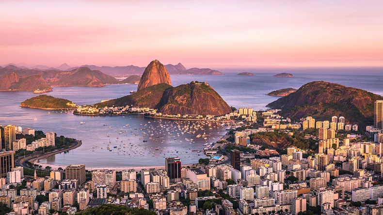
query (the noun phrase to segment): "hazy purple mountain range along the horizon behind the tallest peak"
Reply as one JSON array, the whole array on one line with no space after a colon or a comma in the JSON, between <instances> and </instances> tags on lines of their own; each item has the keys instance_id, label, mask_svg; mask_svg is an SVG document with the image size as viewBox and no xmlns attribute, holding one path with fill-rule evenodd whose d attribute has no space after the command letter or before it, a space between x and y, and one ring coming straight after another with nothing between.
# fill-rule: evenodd
<instances>
[{"instance_id":1,"label":"hazy purple mountain range along the horizon behind the tallest peak","mask_svg":"<svg viewBox=\"0 0 383 215\"><path fill-rule=\"evenodd\" d=\"M18 66L15 63L9 63L5 65L7 66L15 66L20 69L32 69L32 70L41 70L41 71L48 71L48 70L59 70L59 71L71 71L74 69L78 69L80 67L88 67L91 70L99 70L102 73L105 74L138 74L142 75L144 73L145 67L139 67L134 65L129 66L96 66L96 65L81 65L81 66L75 66L71 67L66 63L63 63L62 65L58 67L48 67L45 65L28 65L28 66ZM186 69L185 66L183 66L181 63L178 63L176 65L173 64L167 64L165 65L165 68L168 70L170 75L224 75L222 72L217 70L212 70L208 68L190 68Z\"/></svg>"}]
</instances>

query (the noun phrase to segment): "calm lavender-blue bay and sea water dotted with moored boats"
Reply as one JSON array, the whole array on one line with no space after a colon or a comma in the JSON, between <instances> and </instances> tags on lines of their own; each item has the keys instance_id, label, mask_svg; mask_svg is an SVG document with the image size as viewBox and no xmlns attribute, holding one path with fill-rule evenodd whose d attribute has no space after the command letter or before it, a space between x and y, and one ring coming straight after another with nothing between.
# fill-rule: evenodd
<instances>
[{"instance_id":1,"label":"calm lavender-blue bay and sea water dotted with moored boats","mask_svg":"<svg viewBox=\"0 0 383 215\"><path fill-rule=\"evenodd\" d=\"M335 74L329 70L324 72L301 71L294 73L293 78L271 77L279 71L274 73L249 72L255 72L256 76L237 76L237 73L225 71L224 76L172 76L171 78L173 86L195 80L206 81L220 93L230 106L253 107L255 110L265 109L268 103L278 98L265 95L268 92L288 87L298 89L307 82L318 80L361 88L383 95L383 71L379 70L363 70L362 73L353 72L351 74ZM47 94L69 99L78 105L85 105L95 104L103 99L118 98L136 89L137 85L109 85L102 88L55 87L53 92ZM178 124L169 120L160 122L146 119L141 115L91 117L55 111L48 113L47 110L19 107L22 101L33 96L35 94L32 92L0 92L0 124L16 124L44 132L54 131L58 135L80 139L83 143L79 148L68 153L56 154L42 160L48 164L85 163L89 167L156 166L164 163L164 156L179 156L183 163L190 164L205 157L203 153L192 152L192 150L197 151L199 148L204 148L205 143L213 142L213 138L218 138L217 135L225 133L218 125L214 128L214 124L211 125L212 129L209 129L207 124L201 125L205 130L193 129L195 131L193 134L188 133L190 127L186 128L184 122ZM34 117L37 117L38 120L33 120ZM81 121L86 124L80 124ZM147 131L154 134L152 138L149 138L150 133ZM118 132L122 134L118 134ZM204 132L212 136L206 140L195 137ZM110 137L107 137L108 134ZM147 140L147 142L143 142L143 140ZM123 148L124 143L126 148ZM108 144L112 152L106 149ZM113 148L114 146L117 148ZM117 154L118 148L121 148L120 154Z\"/></svg>"}]
</instances>

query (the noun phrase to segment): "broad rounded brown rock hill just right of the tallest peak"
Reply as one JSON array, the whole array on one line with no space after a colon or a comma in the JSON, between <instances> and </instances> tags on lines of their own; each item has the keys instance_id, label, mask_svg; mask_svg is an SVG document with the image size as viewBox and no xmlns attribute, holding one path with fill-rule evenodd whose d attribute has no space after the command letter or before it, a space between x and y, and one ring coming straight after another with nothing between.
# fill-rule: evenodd
<instances>
[{"instance_id":1,"label":"broad rounded brown rock hill just right of the tallest peak","mask_svg":"<svg viewBox=\"0 0 383 215\"><path fill-rule=\"evenodd\" d=\"M232 112L231 108L205 82L191 82L168 89L159 104L163 114L192 114L221 116Z\"/></svg>"}]
</instances>

